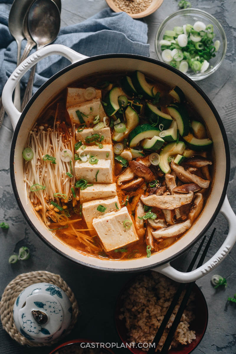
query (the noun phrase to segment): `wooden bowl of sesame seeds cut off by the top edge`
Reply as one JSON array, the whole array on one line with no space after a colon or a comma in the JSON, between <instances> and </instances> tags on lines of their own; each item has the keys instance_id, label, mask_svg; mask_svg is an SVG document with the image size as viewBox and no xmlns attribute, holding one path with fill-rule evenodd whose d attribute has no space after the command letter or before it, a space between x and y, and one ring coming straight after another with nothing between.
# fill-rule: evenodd
<instances>
[{"instance_id":1,"label":"wooden bowl of sesame seeds cut off by the top edge","mask_svg":"<svg viewBox=\"0 0 236 354\"><path fill-rule=\"evenodd\" d=\"M156 11L163 0L106 0L115 12L125 11L133 18L141 18Z\"/></svg>"}]
</instances>

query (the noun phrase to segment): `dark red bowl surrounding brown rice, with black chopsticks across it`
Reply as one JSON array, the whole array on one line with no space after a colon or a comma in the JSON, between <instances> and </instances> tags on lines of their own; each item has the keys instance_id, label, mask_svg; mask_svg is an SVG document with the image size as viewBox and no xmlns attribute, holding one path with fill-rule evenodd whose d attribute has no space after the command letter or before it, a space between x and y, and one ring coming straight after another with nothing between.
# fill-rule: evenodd
<instances>
[{"instance_id":1,"label":"dark red bowl surrounding brown rice, with black chopsticks across it","mask_svg":"<svg viewBox=\"0 0 236 354\"><path fill-rule=\"evenodd\" d=\"M133 281L135 278L129 280L128 284L126 284L123 289L120 292L119 297L117 298L116 301L116 307L115 307L115 325L116 325L116 330L118 332L118 335L121 339L121 341L126 345L129 342L127 341L127 329L125 326L125 319L120 320L119 316L121 314L120 309L123 307L123 300L121 299L121 295L123 292L125 292L130 285L131 281ZM190 330L195 331L196 339L194 339L190 344L179 344L178 347L173 348L168 351L168 354L189 354L191 353L201 342L206 329L207 329L207 323L208 323L208 308L207 308L207 302L206 299L200 290L200 288L195 284L193 288L193 293L195 295L195 308L193 309L195 319L191 322L190 325ZM144 354L145 352L140 349L140 348L132 348L127 346L127 349L129 349L133 354ZM159 353L159 352L157 352Z\"/></svg>"}]
</instances>

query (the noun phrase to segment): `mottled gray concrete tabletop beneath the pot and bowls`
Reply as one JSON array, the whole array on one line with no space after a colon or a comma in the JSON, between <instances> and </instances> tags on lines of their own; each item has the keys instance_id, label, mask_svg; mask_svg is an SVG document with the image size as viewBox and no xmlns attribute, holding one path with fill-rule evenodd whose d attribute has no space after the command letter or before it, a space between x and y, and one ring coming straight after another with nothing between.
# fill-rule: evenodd
<instances>
[{"instance_id":1,"label":"mottled gray concrete tabletop beneath the pot and bowls","mask_svg":"<svg viewBox=\"0 0 236 354\"><path fill-rule=\"evenodd\" d=\"M228 187L228 198L234 211L236 211L235 198L235 169L236 169L236 65L235 65L235 1L201 1L192 0L192 7L200 8L218 18L224 27L228 39L226 58L218 69L209 78L198 81L198 85L206 92L217 108L224 122L231 152L231 173ZM81 22L94 15L107 6L104 0L62 0L62 26ZM154 50L154 37L156 29L162 20L178 9L177 1L164 0L162 6L154 14L146 17L144 21L149 28L150 56L156 58ZM30 229L19 210L13 195L9 152L12 138L12 127L5 119L0 130L0 221L10 224L7 232L0 230L1 267L0 267L0 293L10 280L20 273L31 270L48 270L61 276L73 289L79 302L81 316L74 331L66 339L94 338L101 342L118 342L113 309L116 297L122 285L132 276L131 274L106 274L86 269L73 264L67 259L54 253ZM208 257L211 257L222 244L228 232L228 225L222 216L218 216L213 227L217 228ZM27 262L15 265L8 264L8 257L20 246L28 245L31 258ZM175 261L175 265L187 264L191 259L196 246L188 252L184 262ZM182 261L183 259L181 259ZM210 284L212 273L197 281L201 287L208 304L209 322L205 337L195 349L194 354L232 354L236 353L236 306L228 304L228 296L236 293L236 246L229 256L218 266L214 273L223 275L228 282L226 289L215 290ZM119 349L125 353L125 350ZM48 348L26 348L19 346L8 334L0 329L0 353L28 354L49 353ZM118 352L118 350L116 350Z\"/></svg>"}]
</instances>

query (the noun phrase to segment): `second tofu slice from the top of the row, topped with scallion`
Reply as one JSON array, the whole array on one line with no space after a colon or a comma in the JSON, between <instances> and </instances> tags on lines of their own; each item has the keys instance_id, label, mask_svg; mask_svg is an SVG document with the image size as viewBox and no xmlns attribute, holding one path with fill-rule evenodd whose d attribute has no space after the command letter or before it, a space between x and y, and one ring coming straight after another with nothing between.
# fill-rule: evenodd
<instances>
[{"instance_id":1,"label":"second tofu slice from the top of the row, topped with scallion","mask_svg":"<svg viewBox=\"0 0 236 354\"><path fill-rule=\"evenodd\" d=\"M91 101L77 103L67 107L67 112L69 113L71 124L79 126L82 122L80 122L76 114L77 110L79 110L80 113L83 113L82 118L87 126L91 126L93 124L93 119L97 115L100 116L100 121L103 121L103 117L106 116L100 98L94 98L91 99Z\"/></svg>"}]
</instances>

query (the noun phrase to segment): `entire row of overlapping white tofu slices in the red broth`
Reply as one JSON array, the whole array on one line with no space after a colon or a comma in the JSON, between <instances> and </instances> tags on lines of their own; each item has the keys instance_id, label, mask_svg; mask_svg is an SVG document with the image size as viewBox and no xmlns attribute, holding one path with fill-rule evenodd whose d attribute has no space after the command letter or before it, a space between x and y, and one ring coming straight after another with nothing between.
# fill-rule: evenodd
<instances>
[{"instance_id":1,"label":"entire row of overlapping white tofu slices in the red broth","mask_svg":"<svg viewBox=\"0 0 236 354\"><path fill-rule=\"evenodd\" d=\"M103 117L106 116L101 102L101 91L96 90L96 97L90 101L85 100L84 92L85 89L68 87L67 110L71 123L76 127L81 125L83 121L86 126L93 126L92 122L97 115L99 115L100 121L103 121ZM81 115L83 121L81 121ZM103 136L102 148L96 144L97 141L86 144L86 137L94 134ZM86 145L83 150L84 154L98 159L96 164L90 164L88 160L86 162L75 161L76 179L85 179L88 184L92 184L85 189L80 189L82 214L88 229L91 229L91 235L98 234L106 252L137 241L139 238L134 228L133 219L129 215L127 207L121 208L117 197L116 183L113 183L114 156L110 128L99 130L85 128L81 132L76 130L76 141L81 141L83 145ZM81 153L81 147L76 153L78 155ZM99 206L103 206L103 208Z\"/></svg>"}]
</instances>

